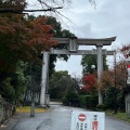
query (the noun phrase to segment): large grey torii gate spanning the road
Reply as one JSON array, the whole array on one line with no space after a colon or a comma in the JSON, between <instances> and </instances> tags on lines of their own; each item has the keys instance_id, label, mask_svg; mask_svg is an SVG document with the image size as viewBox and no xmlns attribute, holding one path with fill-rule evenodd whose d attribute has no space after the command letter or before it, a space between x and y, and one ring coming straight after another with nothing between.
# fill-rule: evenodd
<instances>
[{"instance_id":1,"label":"large grey torii gate spanning the road","mask_svg":"<svg viewBox=\"0 0 130 130\"><path fill-rule=\"evenodd\" d=\"M57 40L58 43L69 44L69 50L55 50L51 49L50 52L43 52L43 65L41 74L41 93L40 93L40 105L48 105L46 103L46 89L47 89L47 78L49 73L49 54L70 54L70 55L83 55L83 54L96 54L98 55L98 80L100 82L101 74L103 72L103 56L113 55L114 51L102 50L103 46L110 46L116 37L104 38L104 39L83 39L77 37L70 38L53 38ZM94 50L78 50L79 46L95 46ZM99 89L99 104L103 103L102 91Z\"/></svg>"}]
</instances>

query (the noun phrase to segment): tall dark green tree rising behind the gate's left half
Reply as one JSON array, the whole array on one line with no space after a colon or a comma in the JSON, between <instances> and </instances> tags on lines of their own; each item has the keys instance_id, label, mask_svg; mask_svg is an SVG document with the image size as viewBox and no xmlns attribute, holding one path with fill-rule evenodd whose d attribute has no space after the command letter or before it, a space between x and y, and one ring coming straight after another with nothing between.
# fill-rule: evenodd
<instances>
[{"instance_id":1,"label":"tall dark green tree rising behind the gate's left half","mask_svg":"<svg viewBox=\"0 0 130 130\"><path fill-rule=\"evenodd\" d=\"M39 16L39 17L42 17L42 16ZM52 34L54 34L54 37L56 37L56 38L63 38L63 37L69 38L69 37L75 36L69 30L63 29L61 23L57 22L57 20L53 16L48 17L47 24L49 24L53 27ZM53 46L53 49L68 49L68 44L56 44L56 46ZM57 58L67 61L68 55L66 55L66 54L50 55L49 76L51 76L53 74L54 67L55 67L54 63L56 62Z\"/></svg>"}]
</instances>

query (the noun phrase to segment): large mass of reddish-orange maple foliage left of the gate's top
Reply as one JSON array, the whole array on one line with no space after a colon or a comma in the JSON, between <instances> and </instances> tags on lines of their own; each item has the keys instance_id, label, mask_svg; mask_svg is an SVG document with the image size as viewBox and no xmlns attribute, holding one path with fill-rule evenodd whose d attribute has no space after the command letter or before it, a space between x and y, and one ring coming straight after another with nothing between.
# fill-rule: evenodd
<instances>
[{"instance_id":1,"label":"large mass of reddish-orange maple foliage left of the gate's top","mask_svg":"<svg viewBox=\"0 0 130 130\"><path fill-rule=\"evenodd\" d=\"M47 18L34 21L22 15L0 17L0 67L12 68L17 60L35 61L42 51L56 44L51 40L52 27L46 24Z\"/></svg>"}]
</instances>

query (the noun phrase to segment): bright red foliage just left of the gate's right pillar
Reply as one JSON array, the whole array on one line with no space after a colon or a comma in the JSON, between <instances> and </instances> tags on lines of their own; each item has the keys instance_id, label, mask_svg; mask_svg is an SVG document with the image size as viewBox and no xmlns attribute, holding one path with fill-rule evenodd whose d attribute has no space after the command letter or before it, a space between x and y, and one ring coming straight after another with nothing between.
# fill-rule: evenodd
<instances>
[{"instance_id":1,"label":"bright red foliage just left of the gate's right pillar","mask_svg":"<svg viewBox=\"0 0 130 130\"><path fill-rule=\"evenodd\" d=\"M94 76L92 74L86 75L83 77L83 84L84 84L84 87L82 88L83 90L86 91L91 90L91 88L93 88L95 84Z\"/></svg>"}]
</instances>

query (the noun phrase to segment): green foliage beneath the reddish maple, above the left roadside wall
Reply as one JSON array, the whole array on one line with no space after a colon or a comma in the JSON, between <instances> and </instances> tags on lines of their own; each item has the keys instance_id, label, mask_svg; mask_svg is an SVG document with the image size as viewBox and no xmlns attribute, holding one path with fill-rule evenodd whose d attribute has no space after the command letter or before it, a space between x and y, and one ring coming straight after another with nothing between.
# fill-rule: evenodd
<instances>
[{"instance_id":1,"label":"green foliage beneath the reddish maple, above the left roadside wall","mask_svg":"<svg viewBox=\"0 0 130 130\"><path fill-rule=\"evenodd\" d=\"M23 102L25 90L30 81L30 76L26 75L27 63L18 61L16 69L0 83L2 96L9 102Z\"/></svg>"}]
</instances>

